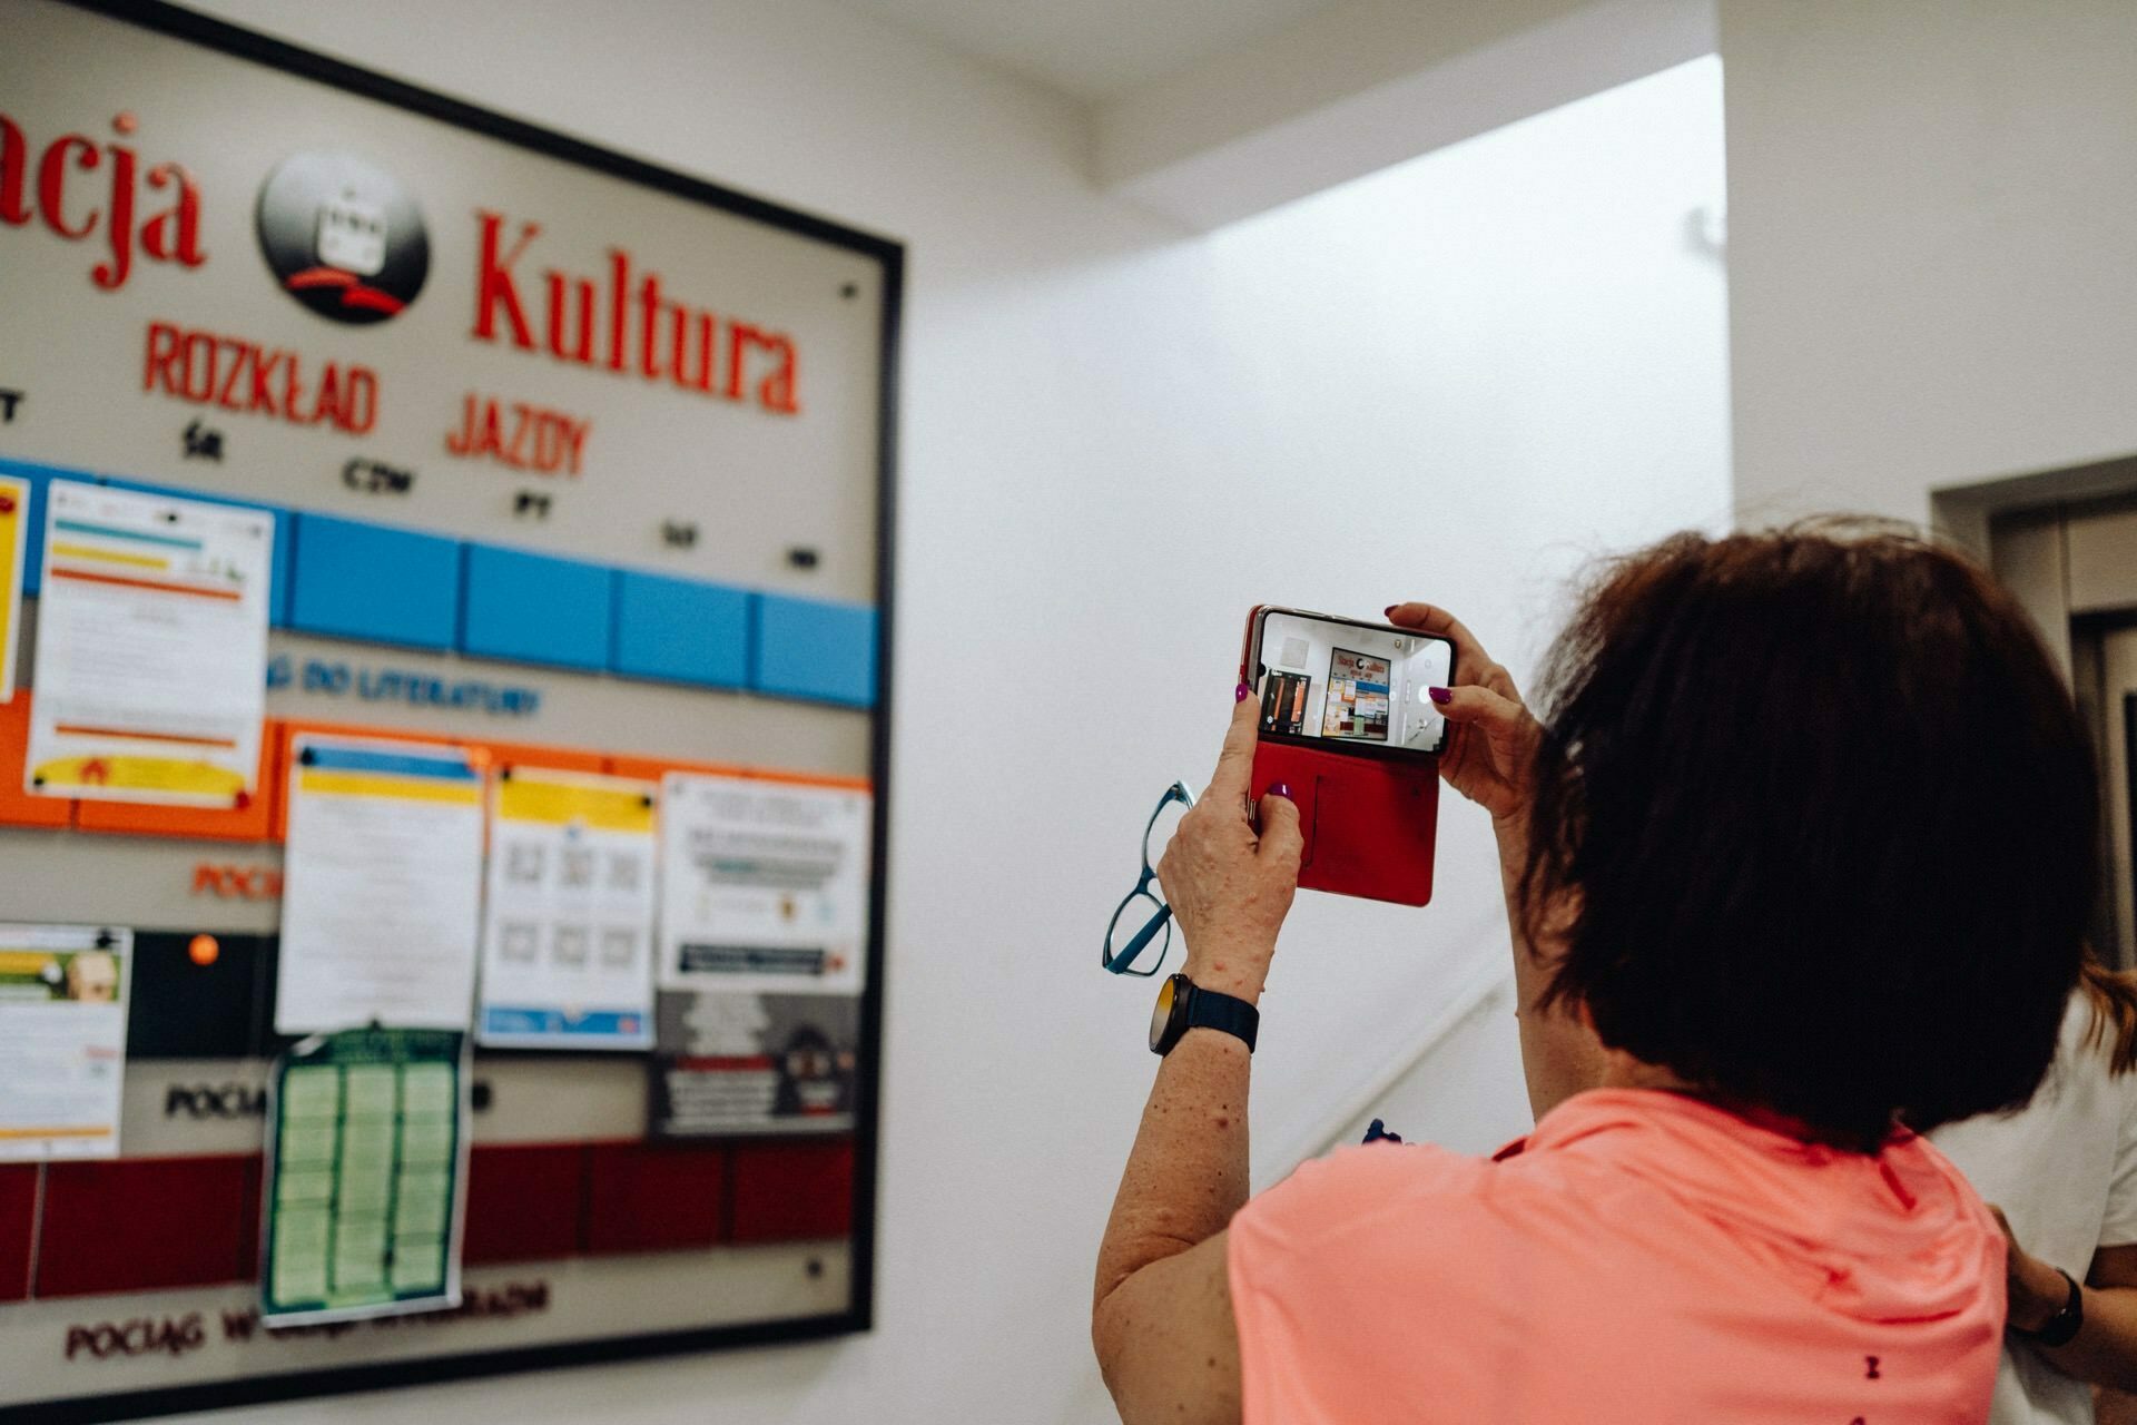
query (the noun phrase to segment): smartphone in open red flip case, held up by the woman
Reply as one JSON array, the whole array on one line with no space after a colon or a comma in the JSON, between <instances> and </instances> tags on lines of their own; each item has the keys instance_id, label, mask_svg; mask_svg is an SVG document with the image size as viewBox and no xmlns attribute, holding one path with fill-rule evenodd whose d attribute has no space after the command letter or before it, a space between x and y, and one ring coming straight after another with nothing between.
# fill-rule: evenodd
<instances>
[{"instance_id":1,"label":"smartphone in open red flip case, held up by the woman","mask_svg":"<svg viewBox=\"0 0 2137 1425\"><path fill-rule=\"evenodd\" d=\"M1252 793L1282 782L1299 808L1299 887L1402 906L1432 899L1438 754L1432 688L1455 647L1415 628L1261 605L1239 682L1261 699Z\"/></svg>"}]
</instances>

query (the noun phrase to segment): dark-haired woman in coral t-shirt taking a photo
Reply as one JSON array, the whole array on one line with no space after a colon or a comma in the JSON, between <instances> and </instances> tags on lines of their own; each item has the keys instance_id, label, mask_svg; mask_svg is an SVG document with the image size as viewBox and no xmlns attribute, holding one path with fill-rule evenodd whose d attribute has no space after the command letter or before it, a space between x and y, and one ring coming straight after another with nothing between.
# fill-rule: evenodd
<instances>
[{"instance_id":1,"label":"dark-haired woman in coral t-shirt taking a photo","mask_svg":"<svg viewBox=\"0 0 2137 1425\"><path fill-rule=\"evenodd\" d=\"M1098 1254L1122 1419L1981 1421L2002 1235L1898 1124L2026 1102L2077 983L2092 763L2026 617L1910 538L1678 536L1586 596L1541 722L1389 617L1457 645L1442 776L1498 831L1539 1122L1248 1201L1250 1017L1180 1034ZM1158 865L1192 998L1248 1008L1299 859L1252 750L1242 701Z\"/></svg>"}]
</instances>

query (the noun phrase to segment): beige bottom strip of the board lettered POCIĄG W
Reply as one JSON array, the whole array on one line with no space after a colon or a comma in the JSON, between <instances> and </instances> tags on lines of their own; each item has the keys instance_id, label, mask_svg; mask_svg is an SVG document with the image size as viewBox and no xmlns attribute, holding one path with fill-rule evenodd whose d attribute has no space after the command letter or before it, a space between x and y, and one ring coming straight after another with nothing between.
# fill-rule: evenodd
<instances>
[{"instance_id":1,"label":"beige bottom strip of the board lettered POCI\u0104G W","mask_svg":"<svg viewBox=\"0 0 2137 1425\"><path fill-rule=\"evenodd\" d=\"M259 1327L250 1286L26 1301L0 1316L0 1406L825 1316L851 1288L851 1243L793 1241L474 1267L459 1314L303 1333Z\"/></svg>"}]
</instances>

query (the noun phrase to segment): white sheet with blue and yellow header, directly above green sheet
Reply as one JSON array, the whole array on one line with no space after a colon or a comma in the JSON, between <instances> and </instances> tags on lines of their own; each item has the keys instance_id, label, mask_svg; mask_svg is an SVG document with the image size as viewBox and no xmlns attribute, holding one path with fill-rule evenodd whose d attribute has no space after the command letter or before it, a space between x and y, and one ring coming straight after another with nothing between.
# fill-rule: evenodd
<instances>
[{"instance_id":1,"label":"white sheet with blue and yellow header, directly above green sheet","mask_svg":"<svg viewBox=\"0 0 2137 1425\"><path fill-rule=\"evenodd\" d=\"M297 737L280 1034L466 1030L483 910L483 765L466 748Z\"/></svg>"}]
</instances>

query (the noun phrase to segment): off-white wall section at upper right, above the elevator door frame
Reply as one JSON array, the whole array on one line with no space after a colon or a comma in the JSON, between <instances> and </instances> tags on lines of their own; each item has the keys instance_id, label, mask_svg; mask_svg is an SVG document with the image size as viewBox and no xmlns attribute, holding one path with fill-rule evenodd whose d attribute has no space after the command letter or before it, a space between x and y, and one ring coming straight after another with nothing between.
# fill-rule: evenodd
<instances>
[{"instance_id":1,"label":"off-white wall section at upper right, above the elevator door frame","mask_svg":"<svg viewBox=\"0 0 2137 1425\"><path fill-rule=\"evenodd\" d=\"M2137 6L1722 0L1737 508L2137 449Z\"/></svg>"}]
</instances>

